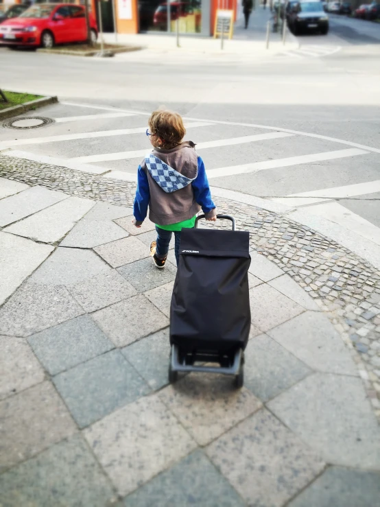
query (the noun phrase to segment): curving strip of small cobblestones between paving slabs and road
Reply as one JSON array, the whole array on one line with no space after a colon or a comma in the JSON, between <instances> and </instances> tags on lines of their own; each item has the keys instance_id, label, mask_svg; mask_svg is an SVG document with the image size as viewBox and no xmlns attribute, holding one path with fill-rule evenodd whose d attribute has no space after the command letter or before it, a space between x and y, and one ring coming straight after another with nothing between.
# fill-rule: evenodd
<instances>
[{"instance_id":1,"label":"curving strip of small cobblestones between paving slabs and road","mask_svg":"<svg viewBox=\"0 0 380 507\"><path fill-rule=\"evenodd\" d=\"M73 196L130 206L136 185L1 156L0 176ZM335 241L287 217L216 198L217 207L249 230L252 248L300 285L335 325L354 355L380 419L380 272Z\"/></svg>"}]
</instances>

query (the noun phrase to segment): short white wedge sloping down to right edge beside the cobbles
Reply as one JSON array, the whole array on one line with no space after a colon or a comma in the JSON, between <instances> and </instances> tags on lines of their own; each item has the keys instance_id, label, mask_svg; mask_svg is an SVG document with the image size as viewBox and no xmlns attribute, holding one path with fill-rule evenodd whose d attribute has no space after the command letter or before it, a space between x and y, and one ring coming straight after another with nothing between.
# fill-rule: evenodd
<instances>
[{"instance_id":1,"label":"short white wedge sloping down to right edge beside the cobbles","mask_svg":"<svg viewBox=\"0 0 380 507\"><path fill-rule=\"evenodd\" d=\"M335 224L340 224L346 227L348 231L357 233L361 237L369 239L372 243L380 245L380 228L345 208L342 204L326 202L309 206L307 211L313 213L313 215L324 217Z\"/></svg>"}]
</instances>

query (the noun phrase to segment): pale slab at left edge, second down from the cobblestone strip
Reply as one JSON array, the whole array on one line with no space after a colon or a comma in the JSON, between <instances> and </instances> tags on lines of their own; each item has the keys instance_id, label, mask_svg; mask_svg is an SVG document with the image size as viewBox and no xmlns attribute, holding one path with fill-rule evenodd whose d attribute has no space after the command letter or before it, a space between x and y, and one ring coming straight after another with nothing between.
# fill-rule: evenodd
<instances>
[{"instance_id":1,"label":"pale slab at left edge, second down from the cobblestone strip","mask_svg":"<svg viewBox=\"0 0 380 507\"><path fill-rule=\"evenodd\" d=\"M19 183L19 185L21 185ZM0 202L0 227L12 224L21 218L27 217L51 207L62 200L68 199L65 193L46 189L45 187L29 187L23 192L16 193Z\"/></svg>"}]
</instances>

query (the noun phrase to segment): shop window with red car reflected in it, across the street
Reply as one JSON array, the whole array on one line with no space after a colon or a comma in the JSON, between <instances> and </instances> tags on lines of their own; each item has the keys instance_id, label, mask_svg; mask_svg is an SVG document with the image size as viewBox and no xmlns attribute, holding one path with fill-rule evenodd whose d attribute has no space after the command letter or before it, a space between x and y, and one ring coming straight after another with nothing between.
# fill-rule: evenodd
<instances>
[{"instance_id":1,"label":"shop window with red car reflected in it, across the street","mask_svg":"<svg viewBox=\"0 0 380 507\"><path fill-rule=\"evenodd\" d=\"M178 20L181 34L199 34L202 30L201 12L201 0L139 0L139 29L140 32L175 33Z\"/></svg>"}]
</instances>

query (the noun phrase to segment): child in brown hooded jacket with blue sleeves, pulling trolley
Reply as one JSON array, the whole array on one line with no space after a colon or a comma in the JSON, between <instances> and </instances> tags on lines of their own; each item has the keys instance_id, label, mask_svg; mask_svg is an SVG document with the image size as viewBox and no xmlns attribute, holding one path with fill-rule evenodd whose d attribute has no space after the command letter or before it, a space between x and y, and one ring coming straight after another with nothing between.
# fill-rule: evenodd
<instances>
[{"instance_id":1,"label":"child in brown hooded jacket with blue sleeves, pulling trolley","mask_svg":"<svg viewBox=\"0 0 380 507\"><path fill-rule=\"evenodd\" d=\"M157 110L148 121L146 134L153 150L139 165L134 225L141 227L147 215L156 224L157 240L150 245L150 255L158 269L165 268L171 234L175 235L174 252L178 264L182 228L193 228L202 208L206 220L216 220L209 182L202 158L192 141L183 142L186 130L178 113Z\"/></svg>"}]
</instances>

